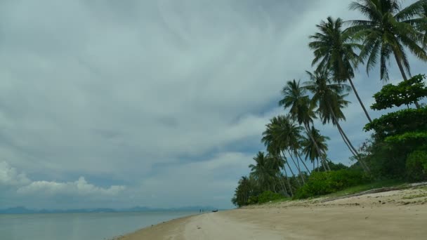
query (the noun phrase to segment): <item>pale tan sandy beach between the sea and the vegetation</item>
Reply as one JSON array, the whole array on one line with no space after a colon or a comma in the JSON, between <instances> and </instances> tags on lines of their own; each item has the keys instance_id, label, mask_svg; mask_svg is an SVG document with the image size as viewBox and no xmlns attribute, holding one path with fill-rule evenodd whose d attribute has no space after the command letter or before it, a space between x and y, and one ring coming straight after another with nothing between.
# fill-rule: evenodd
<instances>
[{"instance_id":1,"label":"pale tan sandy beach between the sea and the vegetation","mask_svg":"<svg viewBox=\"0 0 427 240\"><path fill-rule=\"evenodd\" d=\"M205 213L117 239L427 239L427 187L323 201Z\"/></svg>"}]
</instances>

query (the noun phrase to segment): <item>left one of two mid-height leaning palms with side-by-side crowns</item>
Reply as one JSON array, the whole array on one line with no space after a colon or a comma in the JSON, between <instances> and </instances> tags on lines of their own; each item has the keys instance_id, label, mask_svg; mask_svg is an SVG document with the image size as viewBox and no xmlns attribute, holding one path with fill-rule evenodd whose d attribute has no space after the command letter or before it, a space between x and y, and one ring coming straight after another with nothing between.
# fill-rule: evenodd
<instances>
[{"instance_id":1,"label":"left one of two mid-height leaning palms with side-by-side crowns","mask_svg":"<svg viewBox=\"0 0 427 240\"><path fill-rule=\"evenodd\" d=\"M316 119L316 114L313 111L315 105L310 101L308 95L306 95L306 89L300 86L300 81L288 81L287 85L282 89L283 99L280 100L279 105L283 106L285 109L289 109L289 114L291 114L293 119L296 119L298 124L304 126L306 133L309 135L310 139L313 141L315 148L320 156L322 152L317 146L317 143L310 135L310 125L313 124L313 119ZM329 164L322 157L322 161L329 169Z\"/></svg>"}]
</instances>

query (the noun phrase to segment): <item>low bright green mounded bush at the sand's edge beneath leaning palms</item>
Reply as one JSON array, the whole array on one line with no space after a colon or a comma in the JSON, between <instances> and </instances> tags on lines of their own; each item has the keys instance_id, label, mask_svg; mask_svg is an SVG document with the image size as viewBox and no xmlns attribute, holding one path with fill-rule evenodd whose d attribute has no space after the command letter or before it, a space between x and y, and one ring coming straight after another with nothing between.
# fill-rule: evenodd
<instances>
[{"instance_id":1,"label":"low bright green mounded bush at the sand's edge beneath leaning palms","mask_svg":"<svg viewBox=\"0 0 427 240\"><path fill-rule=\"evenodd\" d=\"M310 196L330 194L367 181L368 178L360 171L339 170L312 173L306 185L298 189L294 197L296 199L306 199Z\"/></svg>"}]
</instances>

